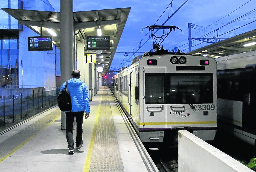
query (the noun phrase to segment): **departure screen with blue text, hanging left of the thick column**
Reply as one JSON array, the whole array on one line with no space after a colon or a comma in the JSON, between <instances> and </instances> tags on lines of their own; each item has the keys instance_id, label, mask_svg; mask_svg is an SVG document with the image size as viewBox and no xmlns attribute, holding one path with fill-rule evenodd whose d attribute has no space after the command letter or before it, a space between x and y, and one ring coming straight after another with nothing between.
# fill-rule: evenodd
<instances>
[{"instance_id":1,"label":"departure screen with blue text, hanging left of the thick column","mask_svg":"<svg viewBox=\"0 0 256 172\"><path fill-rule=\"evenodd\" d=\"M28 37L28 51L49 51L52 50L51 36Z\"/></svg>"}]
</instances>

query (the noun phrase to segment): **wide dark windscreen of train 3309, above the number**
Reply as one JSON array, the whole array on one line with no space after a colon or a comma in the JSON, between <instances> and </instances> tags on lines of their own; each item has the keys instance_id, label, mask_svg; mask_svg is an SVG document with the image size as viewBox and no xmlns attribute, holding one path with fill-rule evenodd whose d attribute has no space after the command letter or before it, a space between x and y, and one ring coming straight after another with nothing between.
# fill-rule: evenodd
<instances>
[{"instance_id":1,"label":"wide dark windscreen of train 3309, above the number","mask_svg":"<svg viewBox=\"0 0 256 172\"><path fill-rule=\"evenodd\" d=\"M212 73L168 73L167 104L213 103Z\"/></svg>"}]
</instances>

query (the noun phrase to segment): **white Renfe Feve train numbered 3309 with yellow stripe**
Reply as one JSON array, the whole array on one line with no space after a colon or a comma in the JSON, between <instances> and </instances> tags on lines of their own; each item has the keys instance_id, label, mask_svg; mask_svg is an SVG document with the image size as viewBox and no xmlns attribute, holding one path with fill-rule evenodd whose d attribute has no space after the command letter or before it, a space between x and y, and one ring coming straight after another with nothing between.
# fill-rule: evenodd
<instances>
[{"instance_id":1,"label":"white Renfe Feve train numbered 3309 with yellow stripe","mask_svg":"<svg viewBox=\"0 0 256 172\"><path fill-rule=\"evenodd\" d=\"M163 142L186 129L213 140L217 129L216 61L186 54L133 59L114 76L114 95L142 142Z\"/></svg>"}]
</instances>

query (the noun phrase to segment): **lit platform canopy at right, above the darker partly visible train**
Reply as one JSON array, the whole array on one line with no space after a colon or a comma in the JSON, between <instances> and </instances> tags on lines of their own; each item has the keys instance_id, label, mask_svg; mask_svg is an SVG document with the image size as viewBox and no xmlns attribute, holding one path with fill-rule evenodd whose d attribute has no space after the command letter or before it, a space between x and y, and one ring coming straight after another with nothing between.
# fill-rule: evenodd
<instances>
[{"instance_id":1,"label":"lit platform canopy at right, above the darker partly visible train","mask_svg":"<svg viewBox=\"0 0 256 172\"><path fill-rule=\"evenodd\" d=\"M213 58L228 56L232 54L239 54L256 50L256 45L246 47L244 46L244 44L248 44L251 42L256 42L256 29L225 39L223 41L216 42L214 44L204 46L202 48L198 48L196 50L188 52L187 54L207 54L208 57Z\"/></svg>"}]
</instances>

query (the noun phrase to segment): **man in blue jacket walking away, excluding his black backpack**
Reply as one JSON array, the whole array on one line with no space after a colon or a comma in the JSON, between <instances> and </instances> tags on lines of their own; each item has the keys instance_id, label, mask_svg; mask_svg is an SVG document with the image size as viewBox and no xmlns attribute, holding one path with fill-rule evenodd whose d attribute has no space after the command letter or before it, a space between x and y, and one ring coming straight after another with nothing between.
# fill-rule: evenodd
<instances>
[{"instance_id":1,"label":"man in blue jacket walking away, excluding his black backpack","mask_svg":"<svg viewBox=\"0 0 256 172\"><path fill-rule=\"evenodd\" d=\"M90 101L89 93L85 83L81 81L80 71L74 70L72 77L68 80L68 92L71 97L72 110L71 112L66 112L66 138L68 142L68 153L74 153L74 139L73 139L73 123L74 117L77 121L77 137L76 137L76 148L80 148L83 144L83 114L85 112L85 119L89 117L90 113ZM65 88L66 82L62 84L60 91Z\"/></svg>"}]
</instances>

